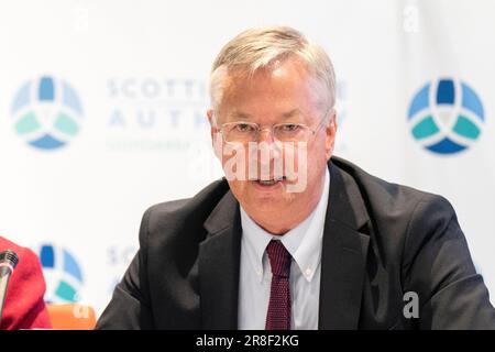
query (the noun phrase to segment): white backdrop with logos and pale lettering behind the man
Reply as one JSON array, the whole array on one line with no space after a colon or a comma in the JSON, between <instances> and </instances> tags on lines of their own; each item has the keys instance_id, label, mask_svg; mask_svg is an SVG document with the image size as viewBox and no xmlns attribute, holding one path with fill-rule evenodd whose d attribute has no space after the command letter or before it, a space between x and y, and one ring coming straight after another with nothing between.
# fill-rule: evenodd
<instances>
[{"instance_id":1,"label":"white backdrop with logos and pale lettering behind the man","mask_svg":"<svg viewBox=\"0 0 495 352\"><path fill-rule=\"evenodd\" d=\"M143 211L221 175L205 118L215 56L244 29L286 24L333 61L336 155L448 198L495 295L494 11L490 0L2 1L0 234L44 246L47 299L100 314L138 249ZM484 109L484 122L474 119L480 135L448 155L422 147L408 123L415 95L428 82L435 92L442 78L466 84ZM19 112L13 103L26 82ZM53 119L61 110L78 125L61 122L66 145L30 145L44 125L24 113Z\"/></svg>"}]
</instances>

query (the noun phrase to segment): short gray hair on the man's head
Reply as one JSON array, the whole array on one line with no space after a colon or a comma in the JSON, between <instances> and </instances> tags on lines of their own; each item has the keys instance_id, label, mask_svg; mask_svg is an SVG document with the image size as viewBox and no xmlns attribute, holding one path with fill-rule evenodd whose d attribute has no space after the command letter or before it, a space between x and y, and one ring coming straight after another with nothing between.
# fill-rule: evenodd
<instances>
[{"instance_id":1,"label":"short gray hair on the man's head","mask_svg":"<svg viewBox=\"0 0 495 352\"><path fill-rule=\"evenodd\" d=\"M336 74L324 50L289 26L266 26L240 33L227 43L211 67L210 99L216 110L222 99L223 79L233 69L249 75L272 68L276 62L298 57L317 79L327 109L336 103Z\"/></svg>"}]
</instances>

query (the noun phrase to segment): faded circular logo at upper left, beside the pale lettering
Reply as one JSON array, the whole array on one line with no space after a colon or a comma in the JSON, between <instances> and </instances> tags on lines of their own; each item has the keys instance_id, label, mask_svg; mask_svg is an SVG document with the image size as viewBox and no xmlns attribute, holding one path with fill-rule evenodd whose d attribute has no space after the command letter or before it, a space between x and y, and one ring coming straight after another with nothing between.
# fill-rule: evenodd
<instances>
[{"instance_id":1,"label":"faded circular logo at upper left, beside the pale lettering","mask_svg":"<svg viewBox=\"0 0 495 352\"><path fill-rule=\"evenodd\" d=\"M30 145L56 150L79 133L82 106L66 81L43 76L18 90L11 113L15 132Z\"/></svg>"}]
</instances>

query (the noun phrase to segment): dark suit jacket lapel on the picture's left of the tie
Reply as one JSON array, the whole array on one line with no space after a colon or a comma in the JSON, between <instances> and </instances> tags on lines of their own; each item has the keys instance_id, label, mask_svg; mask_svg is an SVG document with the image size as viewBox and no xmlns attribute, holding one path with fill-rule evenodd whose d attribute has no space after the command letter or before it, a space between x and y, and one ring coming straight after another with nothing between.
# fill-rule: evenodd
<instances>
[{"instance_id":1,"label":"dark suit jacket lapel on the picture's left of the tie","mask_svg":"<svg viewBox=\"0 0 495 352\"><path fill-rule=\"evenodd\" d=\"M199 290L204 329L237 329L241 223L231 191L205 222L207 239L199 246Z\"/></svg>"}]
</instances>

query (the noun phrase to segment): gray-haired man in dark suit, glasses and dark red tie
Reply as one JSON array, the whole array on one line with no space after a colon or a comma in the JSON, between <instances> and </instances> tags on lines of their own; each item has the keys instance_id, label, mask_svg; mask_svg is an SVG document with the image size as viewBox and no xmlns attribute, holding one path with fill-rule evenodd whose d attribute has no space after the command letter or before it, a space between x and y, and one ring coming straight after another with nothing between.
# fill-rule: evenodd
<instances>
[{"instance_id":1,"label":"gray-haired man in dark suit, glasses and dark red tie","mask_svg":"<svg viewBox=\"0 0 495 352\"><path fill-rule=\"evenodd\" d=\"M334 82L290 28L222 48L208 118L227 179L145 212L98 328L495 328L450 204L332 157Z\"/></svg>"}]
</instances>

